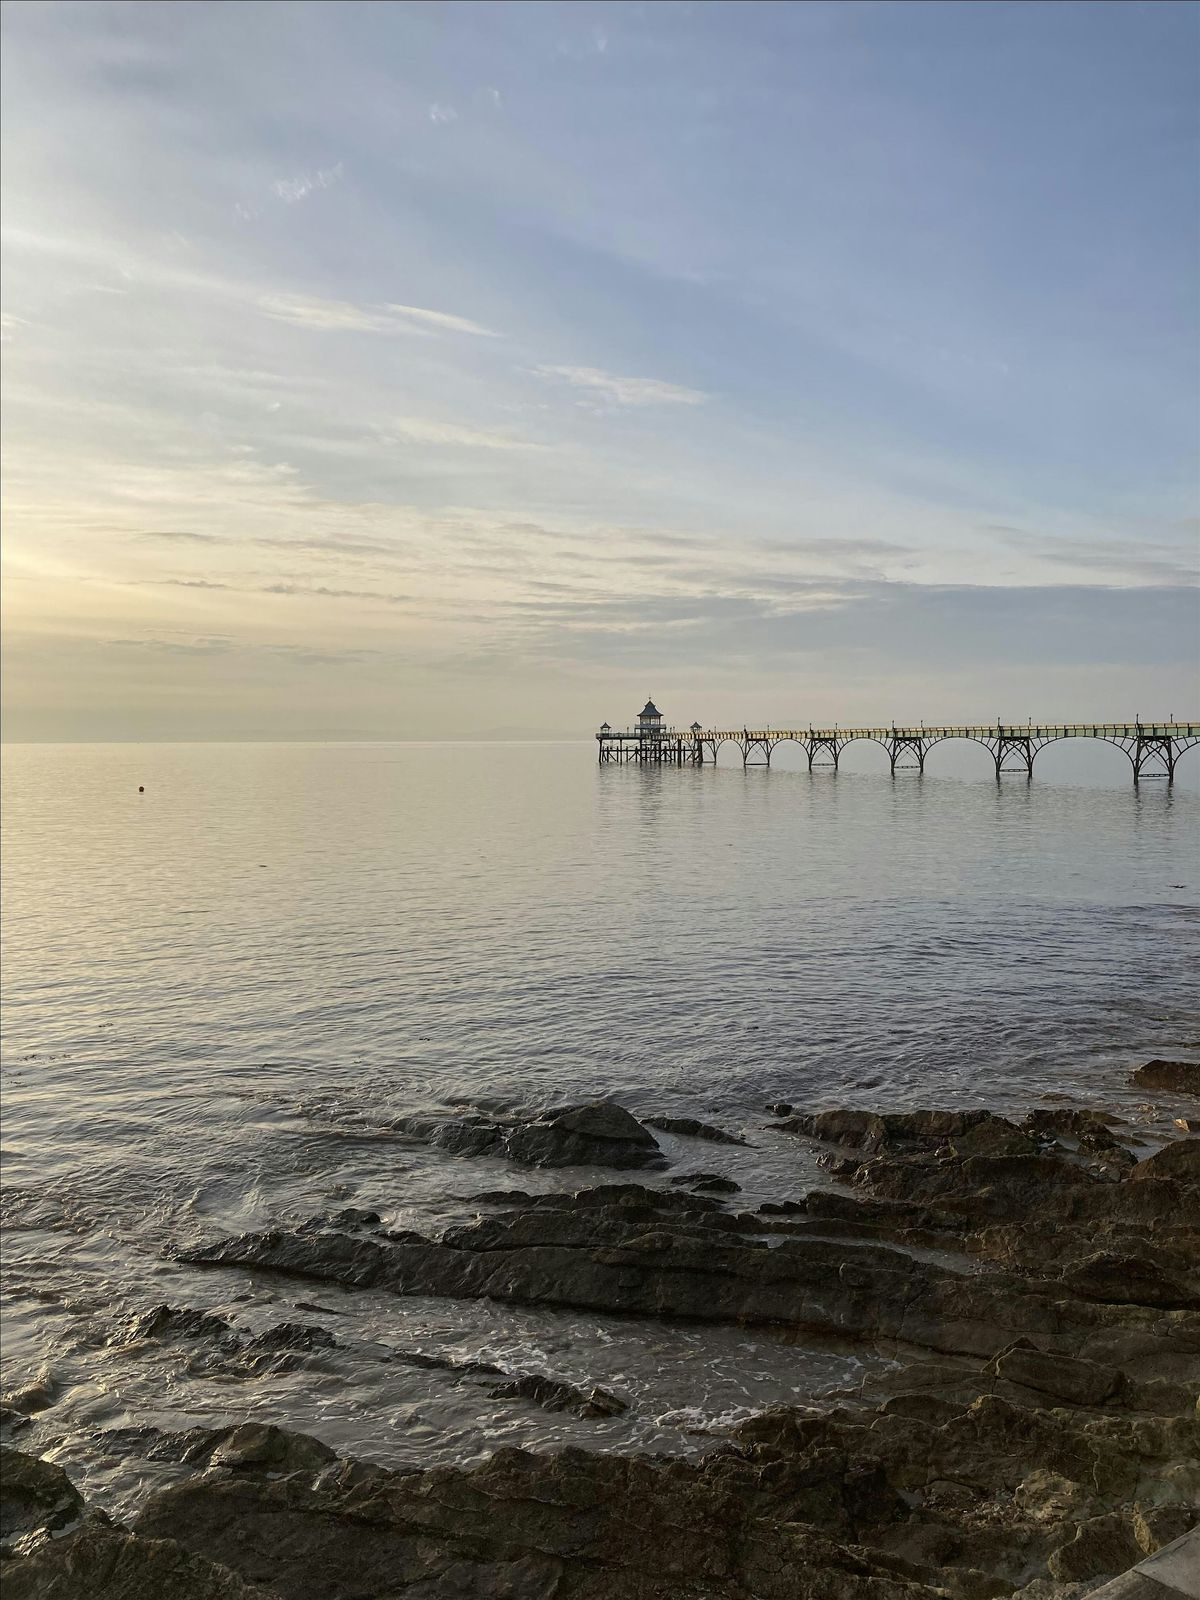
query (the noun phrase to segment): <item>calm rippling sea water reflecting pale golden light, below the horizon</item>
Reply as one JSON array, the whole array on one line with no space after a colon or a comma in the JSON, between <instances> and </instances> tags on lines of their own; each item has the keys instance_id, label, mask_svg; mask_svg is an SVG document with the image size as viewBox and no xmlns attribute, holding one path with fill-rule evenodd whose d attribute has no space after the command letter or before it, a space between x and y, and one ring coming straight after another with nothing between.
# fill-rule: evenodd
<instances>
[{"instance_id":1,"label":"calm rippling sea water reflecting pale golden light, below the horizon","mask_svg":"<svg viewBox=\"0 0 1200 1600\"><path fill-rule=\"evenodd\" d=\"M42 1371L37 1448L117 1509L144 1482L130 1426L269 1416L384 1462L685 1450L875 1358L171 1259L344 1203L429 1229L498 1182L605 1176L438 1157L392 1126L414 1109L709 1115L752 1147L664 1139L656 1181L725 1171L747 1205L821 1176L763 1130L779 1098L1182 1109L1142 1107L1128 1074L1198 1048L1195 774L1134 790L1117 752L1078 746L1000 786L973 749L894 781L869 755L834 776L782 754L638 771L586 744L10 747L6 1382ZM341 1349L253 1379L126 1349L163 1301L320 1322ZM413 1349L602 1382L630 1411L491 1402L392 1355Z\"/></svg>"}]
</instances>

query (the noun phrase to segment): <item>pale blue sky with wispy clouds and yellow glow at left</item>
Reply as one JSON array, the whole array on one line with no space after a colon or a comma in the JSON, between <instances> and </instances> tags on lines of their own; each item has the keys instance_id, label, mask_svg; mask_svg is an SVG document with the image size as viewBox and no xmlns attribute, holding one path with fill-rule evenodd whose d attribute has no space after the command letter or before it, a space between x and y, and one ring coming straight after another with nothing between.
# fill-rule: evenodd
<instances>
[{"instance_id":1,"label":"pale blue sky with wispy clouds and yellow glow at left","mask_svg":"<svg viewBox=\"0 0 1200 1600\"><path fill-rule=\"evenodd\" d=\"M1192 3L3 6L11 739L1200 717Z\"/></svg>"}]
</instances>

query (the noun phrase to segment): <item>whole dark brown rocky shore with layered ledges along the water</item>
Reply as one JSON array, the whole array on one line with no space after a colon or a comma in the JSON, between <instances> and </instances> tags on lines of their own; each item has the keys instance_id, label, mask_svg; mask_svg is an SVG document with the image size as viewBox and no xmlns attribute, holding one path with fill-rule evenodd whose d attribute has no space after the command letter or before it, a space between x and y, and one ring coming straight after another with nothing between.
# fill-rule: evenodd
<instances>
[{"instance_id":1,"label":"whole dark brown rocky shore with layered ledges along the water","mask_svg":"<svg viewBox=\"0 0 1200 1600\"><path fill-rule=\"evenodd\" d=\"M1195 1094L1195 1070L1150 1062L1141 1082ZM1197 1523L1194 1120L1166 1144L1045 1107L1016 1122L776 1104L770 1126L819 1152L835 1187L749 1211L720 1174L672 1181L651 1130L741 1142L696 1118L438 1112L400 1131L466 1162L501 1157L525 1182L576 1163L619 1176L491 1189L437 1237L358 1208L181 1259L797 1346L837 1336L891 1357L861 1386L758 1411L694 1461L499 1450L397 1472L269 1424L142 1429L138 1448L174 1480L128 1523L90 1509L22 1429L3 1459L6 1600L1078 1600ZM240 1370L334 1341L302 1323L246 1338L170 1306L136 1333ZM624 1410L600 1387L474 1365L530 1405ZM13 1403L10 1426L24 1419Z\"/></svg>"}]
</instances>

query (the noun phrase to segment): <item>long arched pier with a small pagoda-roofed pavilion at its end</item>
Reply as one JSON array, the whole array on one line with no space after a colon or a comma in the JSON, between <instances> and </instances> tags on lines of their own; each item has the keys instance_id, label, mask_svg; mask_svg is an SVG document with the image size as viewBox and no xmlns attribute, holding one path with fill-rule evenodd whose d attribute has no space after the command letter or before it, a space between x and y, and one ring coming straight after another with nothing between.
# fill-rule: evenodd
<instances>
[{"instance_id":1,"label":"long arched pier with a small pagoda-roofed pavilion at its end","mask_svg":"<svg viewBox=\"0 0 1200 1600\"><path fill-rule=\"evenodd\" d=\"M1133 766L1134 784L1144 778L1174 782L1179 757L1200 744L1197 722L1067 722L1067 723L963 723L957 726L891 726L891 728L706 728L693 722L690 728L672 728L662 720L653 701L646 701L634 726L613 730L602 723L597 733L602 766L654 765L704 766L717 763L723 744L733 744L742 766L770 766L771 752L779 744L798 744L814 768L837 771L838 758L856 739L870 739L888 752L893 776L898 770L925 771L925 760L936 744L947 739L973 739L982 744L995 763L995 776L1016 773L1034 776L1034 758L1059 739L1099 739L1123 750Z\"/></svg>"}]
</instances>

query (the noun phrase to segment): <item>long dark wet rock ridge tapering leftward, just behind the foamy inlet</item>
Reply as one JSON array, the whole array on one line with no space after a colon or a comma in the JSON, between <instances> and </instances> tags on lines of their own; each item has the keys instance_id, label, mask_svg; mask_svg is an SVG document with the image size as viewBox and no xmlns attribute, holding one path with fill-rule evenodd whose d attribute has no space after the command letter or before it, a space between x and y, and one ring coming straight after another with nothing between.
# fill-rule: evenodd
<instances>
[{"instance_id":1,"label":"long dark wet rock ridge tapering leftward, just behind the foamy inlet","mask_svg":"<svg viewBox=\"0 0 1200 1600\"><path fill-rule=\"evenodd\" d=\"M1069 1350L1114 1323L1130 1326L1138 1320L1130 1306L1178 1299L1165 1301L1158 1285L1154 1299L1123 1293L1120 1312L1102 1310L1054 1304L1037 1283L1000 1274L965 1277L880 1245L789 1237L768 1250L755 1235L762 1222L728 1216L720 1206L696 1210L707 1197L680 1192L640 1190L627 1203L611 1197L594 1206L581 1203L584 1195L557 1198L566 1203L480 1218L448 1229L440 1240L272 1230L222 1240L184 1259L258 1266L395 1294L778 1323L987 1357L1019 1336ZM1128 1275L1122 1282L1128 1290ZM1106 1285L1098 1278L1083 1283L1086 1299L1104 1298ZM1149 1331L1147 1315L1142 1323L1154 1342L1158 1334Z\"/></svg>"}]
</instances>

